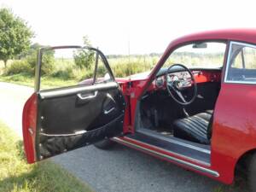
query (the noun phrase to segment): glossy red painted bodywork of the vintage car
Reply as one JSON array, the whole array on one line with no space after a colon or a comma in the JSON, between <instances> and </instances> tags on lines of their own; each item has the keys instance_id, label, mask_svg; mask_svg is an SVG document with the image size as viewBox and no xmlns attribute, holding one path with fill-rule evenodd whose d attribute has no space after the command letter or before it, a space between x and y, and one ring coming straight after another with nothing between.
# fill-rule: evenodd
<instances>
[{"instance_id":1,"label":"glossy red painted bodywork of the vintage car","mask_svg":"<svg viewBox=\"0 0 256 192\"><path fill-rule=\"evenodd\" d=\"M224 56L222 73L203 71L195 76L196 83L219 81L221 89L215 104L210 165L199 160L172 153L163 148L150 145L126 137L126 134L136 132L137 102L146 90L157 89L154 77L165 63L174 49L183 44L195 41L224 40L227 48ZM236 29L212 32L201 32L177 38L167 47L160 61L148 75L134 76L131 78L116 79L125 96L126 108L123 125L123 136L113 137L113 141L136 148L144 153L154 155L157 158L168 160L178 166L194 172L199 172L212 177L220 182L230 184L235 177L238 162L256 150L256 85L255 84L232 84L224 82L224 74L229 54L231 41L245 44L256 44L256 30ZM23 134L26 149L26 157L29 163L37 160L36 157L36 132L37 132L37 93L26 102L23 113Z\"/></svg>"}]
</instances>

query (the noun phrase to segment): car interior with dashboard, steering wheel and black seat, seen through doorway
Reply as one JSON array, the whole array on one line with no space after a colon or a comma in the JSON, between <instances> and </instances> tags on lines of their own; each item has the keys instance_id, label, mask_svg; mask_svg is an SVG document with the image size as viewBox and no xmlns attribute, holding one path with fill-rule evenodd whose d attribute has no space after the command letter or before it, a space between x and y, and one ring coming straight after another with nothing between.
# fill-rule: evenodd
<instances>
[{"instance_id":1,"label":"car interior with dashboard, steering wheel and black seat, seen through doorway","mask_svg":"<svg viewBox=\"0 0 256 192\"><path fill-rule=\"evenodd\" d=\"M205 148L209 154L224 51L219 67L187 68L186 63L162 67L140 100L137 132L156 138L156 143L178 141ZM170 143L159 147L169 148Z\"/></svg>"}]
</instances>

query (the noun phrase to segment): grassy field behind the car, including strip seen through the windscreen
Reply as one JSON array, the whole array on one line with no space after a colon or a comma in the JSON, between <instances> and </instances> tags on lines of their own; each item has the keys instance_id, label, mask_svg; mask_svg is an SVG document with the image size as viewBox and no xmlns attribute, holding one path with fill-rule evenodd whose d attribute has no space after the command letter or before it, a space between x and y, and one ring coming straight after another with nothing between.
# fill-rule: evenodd
<instances>
[{"instance_id":1,"label":"grassy field behind the car, including strip seen through the windscreen","mask_svg":"<svg viewBox=\"0 0 256 192\"><path fill-rule=\"evenodd\" d=\"M200 64L200 67L221 67L222 58L223 55L219 54L205 55L203 59L201 55L174 54L166 61L164 67L170 67L173 63L186 64L187 67L196 67L198 64ZM150 71L159 60L160 55L108 56L109 65L116 78ZM203 63L200 63L201 61ZM28 62L26 60L9 61L7 68L4 68L3 62L0 62L0 81L33 86L34 69ZM213 63L213 65L207 66L207 63ZM48 73L42 75L41 88L43 90L75 85L84 79L93 78L94 74L94 65L90 68L79 68L72 59L57 58L53 65L49 67L49 69L46 68ZM103 77L105 73L107 73L106 68L100 61L97 75Z\"/></svg>"}]
</instances>

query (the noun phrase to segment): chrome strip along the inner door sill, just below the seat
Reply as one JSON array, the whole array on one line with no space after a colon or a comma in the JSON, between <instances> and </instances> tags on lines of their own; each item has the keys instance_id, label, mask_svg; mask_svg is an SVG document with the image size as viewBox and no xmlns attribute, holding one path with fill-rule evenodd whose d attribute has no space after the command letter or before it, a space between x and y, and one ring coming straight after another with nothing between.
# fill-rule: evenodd
<instances>
[{"instance_id":1,"label":"chrome strip along the inner door sill, just below the seat","mask_svg":"<svg viewBox=\"0 0 256 192\"><path fill-rule=\"evenodd\" d=\"M143 133L145 135L148 135L150 137L154 137L154 134L155 134L155 133L150 133L148 130L143 131L142 128L140 130L138 130L137 132L141 132L141 133ZM160 133L157 133L157 135L159 137L161 137L161 139L163 139L166 142L175 143L175 144L181 145L181 146L186 147L186 148L192 148L192 149L195 149L195 150L200 151L200 152L205 153L205 154L211 154L211 150L207 150L205 148L199 148L199 147L187 144L187 143L182 143L182 142L179 142L179 141L174 140L172 138L166 138L165 136L162 136Z\"/></svg>"}]
</instances>

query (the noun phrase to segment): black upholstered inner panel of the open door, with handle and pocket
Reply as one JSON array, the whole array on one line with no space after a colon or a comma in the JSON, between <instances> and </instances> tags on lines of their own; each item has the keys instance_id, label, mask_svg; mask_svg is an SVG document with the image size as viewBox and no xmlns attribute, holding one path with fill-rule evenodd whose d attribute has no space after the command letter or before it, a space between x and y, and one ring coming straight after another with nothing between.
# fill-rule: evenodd
<instances>
[{"instance_id":1,"label":"black upholstered inner panel of the open door, with handle and pocket","mask_svg":"<svg viewBox=\"0 0 256 192\"><path fill-rule=\"evenodd\" d=\"M64 92L52 90L39 96L38 159L122 132L125 99L118 84Z\"/></svg>"}]
</instances>

